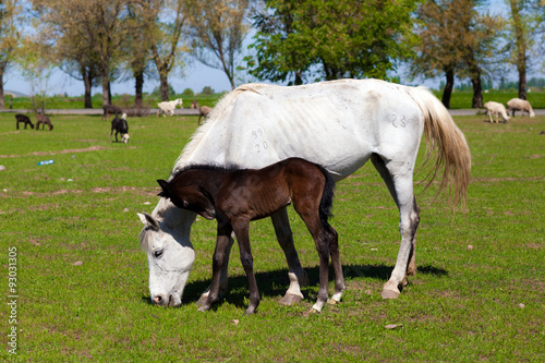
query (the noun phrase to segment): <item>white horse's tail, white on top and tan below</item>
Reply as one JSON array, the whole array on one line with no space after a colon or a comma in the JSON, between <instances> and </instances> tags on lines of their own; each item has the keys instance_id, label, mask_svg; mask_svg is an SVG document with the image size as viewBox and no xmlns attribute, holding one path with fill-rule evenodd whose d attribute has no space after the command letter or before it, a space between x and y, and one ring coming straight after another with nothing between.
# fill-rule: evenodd
<instances>
[{"instance_id":1,"label":"white horse's tail, white on top and tan below","mask_svg":"<svg viewBox=\"0 0 545 363\"><path fill-rule=\"evenodd\" d=\"M463 133L458 129L443 104L425 87L409 87L409 95L424 112L424 134L427 140L424 165L437 150L435 166L427 176L426 189L437 178L439 169L443 177L437 194L447 190L452 198L449 202L464 204L471 172L471 155Z\"/></svg>"}]
</instances>

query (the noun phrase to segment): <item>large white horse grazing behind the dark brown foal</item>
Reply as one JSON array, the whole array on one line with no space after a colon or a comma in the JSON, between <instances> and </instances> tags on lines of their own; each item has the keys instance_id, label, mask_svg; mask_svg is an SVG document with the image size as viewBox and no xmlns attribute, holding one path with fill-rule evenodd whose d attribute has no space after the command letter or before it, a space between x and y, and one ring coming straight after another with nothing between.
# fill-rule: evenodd
<instances>
[{"instance_id":1,"label":"large white horse grazing behind the dark brown foal","mask_svg":"<svg viewBox=\"0 0 545 363\"><path fill-rule=\"evenodd\" d=\"M426 88L377 80L294 87L243 85L220 100L183 149L172 173L197 164L259 169L300 157L324 166L339 181L371 159L400 213L401 245L382 292L384 299L395 299L400 294L399 287L407 283L407 275L416 270L420 208L413 192L413 172L423 133L428 141L427 156L437 150L431 179L443 168L439 191L452 191L453 185L453 197L449 199L463 202L470 150L447 109ZM152 300L178 306L195 259L190 229L196 215L160 198L152 215L138 216L145 225L140 240L148 256ZM300 286L306 283L306 274L293 245L286 208L271 219L289 267L290 287L280 303L292 304L303 299ZM229 250L222 265L223 293ZM206 293L199 302L204 299Z\"/></svg>"}]
</instances>

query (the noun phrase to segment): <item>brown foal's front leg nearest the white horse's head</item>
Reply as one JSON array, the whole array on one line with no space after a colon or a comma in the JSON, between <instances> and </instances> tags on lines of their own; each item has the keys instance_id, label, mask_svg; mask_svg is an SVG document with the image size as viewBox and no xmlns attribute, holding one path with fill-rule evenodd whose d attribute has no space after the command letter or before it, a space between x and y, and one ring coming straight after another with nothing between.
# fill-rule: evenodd
<instances>
[{"instance_id":1,"label":"brown foal's front leg nearest the white horse's head","mask_svg":"<svg viewBox=\"0 0 545 363\"><path fill-rule=\"evenodd\" d=\"M201 298L198 301L201 302L201 307L198 307L199 312L209 310L215 303L219 301L221 271L223 270L223 265L227 265L226 252L230 250L231 232L232 232L232 227L230 223L220 222L218 220L218 237L216 240L216 250L214 251L214 257L213 257L211 285L210 289L208 290L206 299L203 300L203 298ZM229 258L227 258L227 262L228 261Z\"/></svg>"}]
</instances>

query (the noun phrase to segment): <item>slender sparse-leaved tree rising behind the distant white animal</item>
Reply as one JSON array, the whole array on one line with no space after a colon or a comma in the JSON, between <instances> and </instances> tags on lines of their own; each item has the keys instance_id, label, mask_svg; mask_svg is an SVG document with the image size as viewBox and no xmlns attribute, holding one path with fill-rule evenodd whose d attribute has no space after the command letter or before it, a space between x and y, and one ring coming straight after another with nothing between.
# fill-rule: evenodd
<instances>
[{"instance_id":1,"label":"slender sparse-leaved tree rising behind the distant white animal","mask_svg":"<svg viewBox=\"0 0 545 363\"><path fill-rule=\"evenodd\" d=\"M183 13L183 0L159 1L161 12L157 12L152 55L159 73L161 101L169 100L168 75L182 64L180 55L183 46L180 45L185 34L186 17Z\"/></svg>"}]
</instances>

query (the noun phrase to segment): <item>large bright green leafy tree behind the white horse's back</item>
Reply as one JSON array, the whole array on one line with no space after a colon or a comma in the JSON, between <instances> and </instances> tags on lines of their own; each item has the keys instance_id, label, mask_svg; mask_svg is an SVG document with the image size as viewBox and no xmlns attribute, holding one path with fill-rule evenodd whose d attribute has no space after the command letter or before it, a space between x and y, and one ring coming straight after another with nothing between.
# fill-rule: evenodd
<instances>
[{"instance_id":1,"label":"large bright green leafy tree behind the white horse's back","mask_svg":"<svg viewBox=\"0 0 545 363\"><path fill-rule=\"evenodd\" d=\"M266 0L254 15L251 73L300 84L341 77L388 78L411 57L414 1Z\"/></svg>"}]
</instances>

